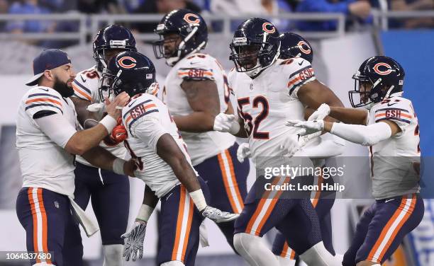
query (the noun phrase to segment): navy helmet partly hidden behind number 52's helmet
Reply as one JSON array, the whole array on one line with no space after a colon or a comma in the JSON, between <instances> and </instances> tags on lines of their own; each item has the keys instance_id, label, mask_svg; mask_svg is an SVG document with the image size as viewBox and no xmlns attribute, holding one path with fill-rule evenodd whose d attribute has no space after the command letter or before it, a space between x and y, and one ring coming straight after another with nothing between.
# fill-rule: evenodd
<instances>
[{"instance_id":1,"label":"navy helmet partly hidden behind number 52's helmet","mask_svg":"<svg viewBox=\"0 0 434 266\"><path fill-rule=\"evenodd\" d=\"M295 33L282 33L280 35L280 59L301 57L312 64L313 49L309 42Z\"/></svg>"}]
</instances>

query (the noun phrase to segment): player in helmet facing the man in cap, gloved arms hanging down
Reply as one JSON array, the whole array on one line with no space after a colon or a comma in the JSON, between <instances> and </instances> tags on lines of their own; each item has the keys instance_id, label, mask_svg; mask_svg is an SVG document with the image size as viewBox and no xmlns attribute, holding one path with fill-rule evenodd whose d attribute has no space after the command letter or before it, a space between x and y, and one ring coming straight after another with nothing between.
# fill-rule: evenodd
<instances>
[{"instance_id":1,"label":"player in helmet facing the man in cap, gloved arms hanging down","mask_svg":"<svg viewBox=\"0 0 434 266\"><path fill-rule=\"evenodd\" d=\"M177 125L165 103L149 93L157 83L148 57L138 52L117 54L103 74L102 86L111 88L115 95L125 91L132 97L122 111L128 130L124 142L138 165L135 176L146 183L133 229L123 236L127 238L126 260L135 260L137 255L142 258L146 224L160 199L158 265L194 265L204 216L220 223L233 221L238 214L208 206L208 185L191 166Z\"/></svg>"}]
</instances>

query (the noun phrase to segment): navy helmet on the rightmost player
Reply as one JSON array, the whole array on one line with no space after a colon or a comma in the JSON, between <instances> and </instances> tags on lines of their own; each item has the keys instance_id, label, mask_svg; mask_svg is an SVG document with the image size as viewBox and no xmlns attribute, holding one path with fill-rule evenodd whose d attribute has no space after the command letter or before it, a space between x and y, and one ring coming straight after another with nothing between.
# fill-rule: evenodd
<instances>
[{"instance_id":1,"label":"navy helmet on the rightmost player","mask_svg":"<svg viewBox=\"0 0 434 266\"><path fill-rule=\"evenodd\" d=\"M394 59L382 55L369 57L352 76L355 79L354 90L348 92L352 107L379 103L391 94L402 91L404 76L404 68ZM365 86L372 88L365 91ZM355 98L360 98L359 103L355 103Z\"/></svg>"}]
</instances>

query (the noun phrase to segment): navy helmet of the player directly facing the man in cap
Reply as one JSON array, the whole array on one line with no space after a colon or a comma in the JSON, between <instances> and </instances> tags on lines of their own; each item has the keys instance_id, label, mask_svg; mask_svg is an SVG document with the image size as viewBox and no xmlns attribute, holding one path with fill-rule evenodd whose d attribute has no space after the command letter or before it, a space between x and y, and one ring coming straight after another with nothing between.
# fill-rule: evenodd
<instances>
[{"instance_id":1,"label":"navy helmet of the player directly facing the man in cap","mask_svg":"<svg viewBox=\"0 0 434 266\"><path fill-rule=\"evenodd\" d=\"M109 97L110 91L116 96L125 91L133 97L138 93L148 93L155 86L157 82L152 61L140 52L126 51L111 58L103 71L99 93L100 97Z\"/></svg>"}]
</instances>

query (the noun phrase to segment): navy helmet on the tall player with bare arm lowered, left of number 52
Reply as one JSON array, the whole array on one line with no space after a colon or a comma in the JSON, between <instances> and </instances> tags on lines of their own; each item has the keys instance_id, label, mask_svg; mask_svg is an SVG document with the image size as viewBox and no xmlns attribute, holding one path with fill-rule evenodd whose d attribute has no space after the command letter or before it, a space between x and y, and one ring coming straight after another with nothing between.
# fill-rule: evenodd
<instances>
[{"instance_id":1,"label":"navy helmet on the tall player with bare arm lowered, left of number 52","mask_svg":"<svg viewBox=\"0 0 434 266\"><path fill-rule=\"evenodd\" d=\"M176 64L187 54L204 49L208 42L208 28L204 18L189 9L177 9L167 13L157 25L155 33L160 35L160 40L153 43L155 57L165 58L169 66ZM176 49L167 52L164 36L169 33L179 35L181 42Z\"/></svg>"}]
</instances>

